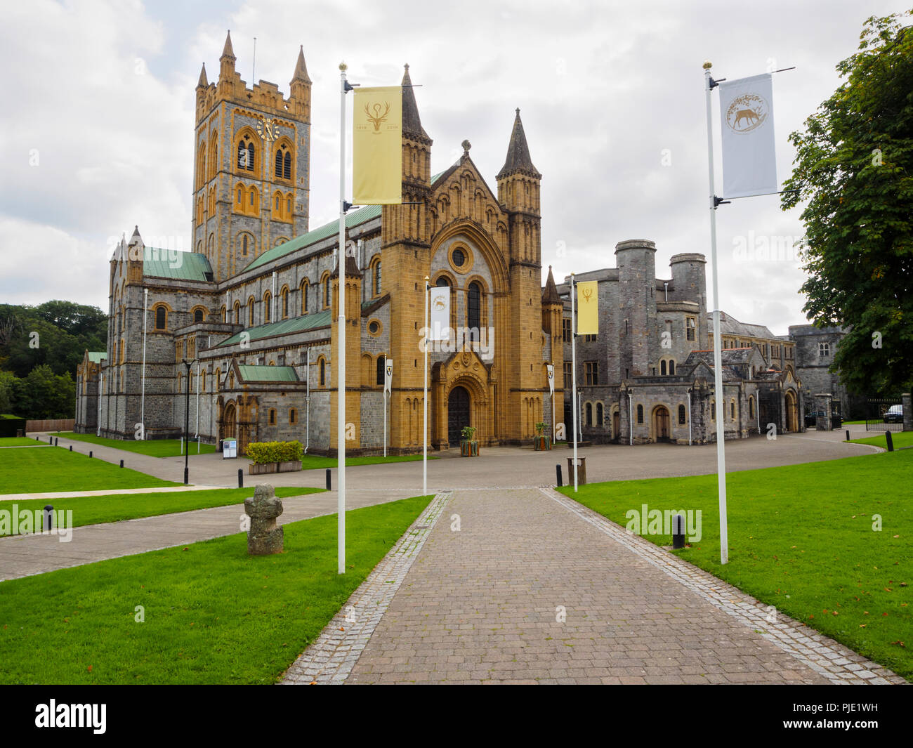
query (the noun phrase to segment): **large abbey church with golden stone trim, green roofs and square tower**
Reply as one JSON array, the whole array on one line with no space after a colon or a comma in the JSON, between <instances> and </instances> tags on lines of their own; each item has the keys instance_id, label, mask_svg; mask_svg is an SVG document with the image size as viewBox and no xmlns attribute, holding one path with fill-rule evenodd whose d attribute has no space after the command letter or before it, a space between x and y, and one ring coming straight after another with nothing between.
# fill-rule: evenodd
<instances>
[{"instance_id":1,"label":"large abbey church with golden stone trim, green roofs and square tower","mask_svg":"<svg viewBox=\"0 0 913 748\"><path fill-rule=\"evenodd\" d=\"M236 438L241 454L277 439L333 454L334 363L345 356L352 453L383 450L384 407L389 451L419 451L426 277L450 289L452 327L481 331L459 350L429 353L430 443L456 446L468 425L482 445L528 443L537 422L551 424L547 365L563 370L563 303L541 289L541 174L519 110L495 190L468 142L456 163L431 174L433 141L406 66L404 204L351 211L346 245L355 251L340 268L338 222L309 222L303 50L288 98L265 80L247 87L230 36L219 64L217 81L204 67L196 87L194 251L146 247L139 228L121 240L110 260L107 350L87 352L79 366L76 430L178 437L186 417L191 435Z\"/></svg>"}]
</instances>

